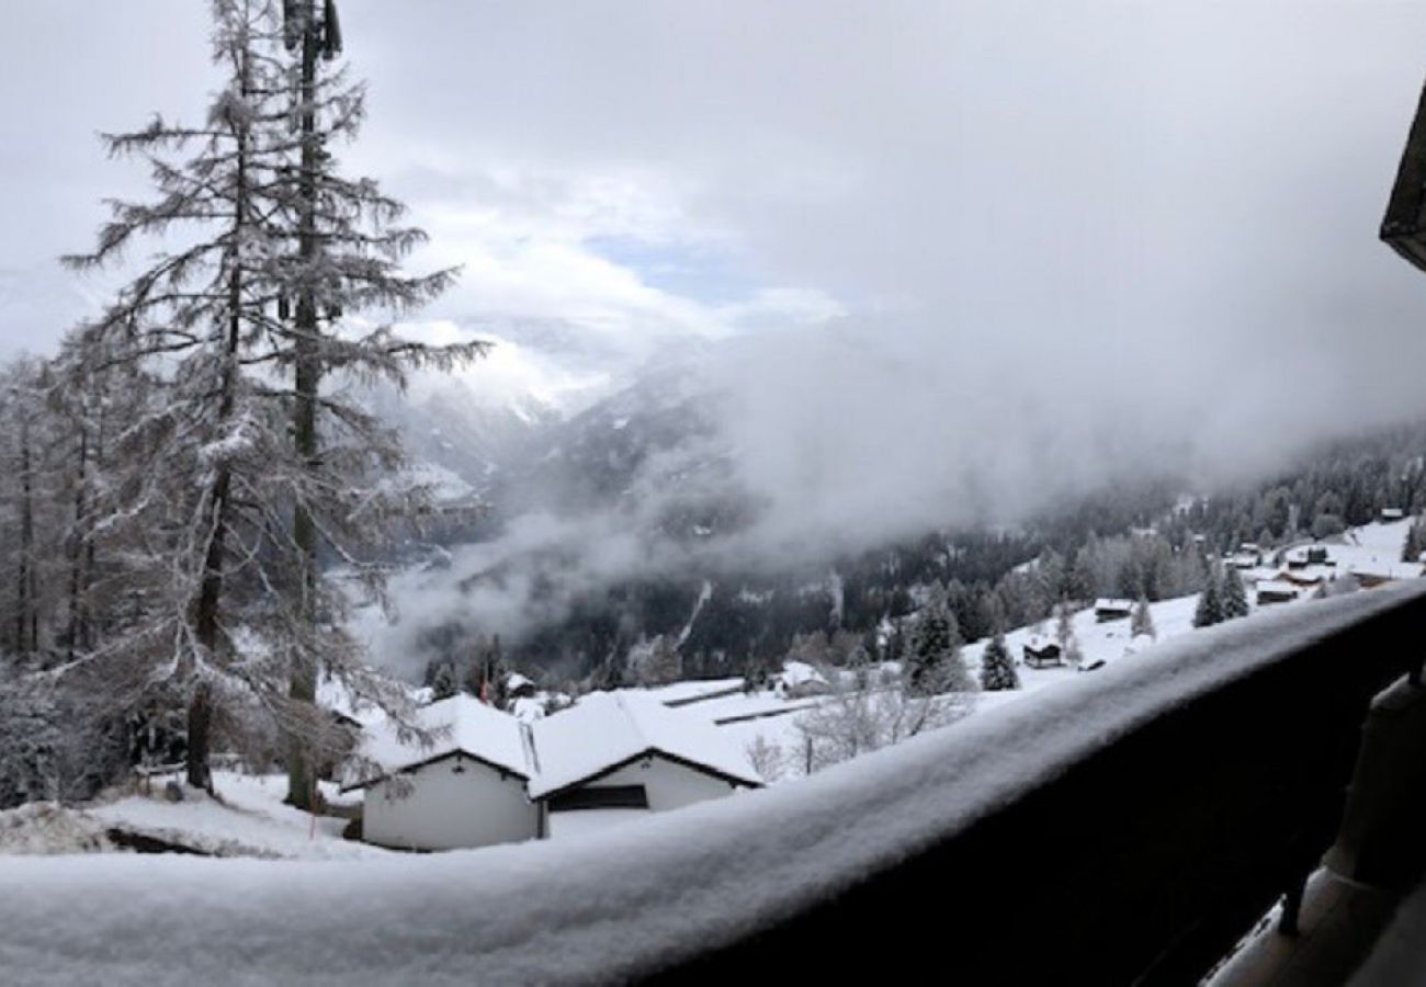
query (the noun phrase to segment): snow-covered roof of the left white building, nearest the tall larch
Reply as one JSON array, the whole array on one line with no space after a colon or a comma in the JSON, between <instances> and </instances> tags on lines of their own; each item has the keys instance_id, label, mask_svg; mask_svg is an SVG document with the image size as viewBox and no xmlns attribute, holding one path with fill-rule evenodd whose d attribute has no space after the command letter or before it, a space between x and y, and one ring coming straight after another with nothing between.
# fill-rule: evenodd
<instances>
[{"instance_id":1,"label":"snow-covered roof of the left white building, nearest the tall larch","mask_svg":"<svg viewBox=\"0 0 1426 987\"><path fill-rule=\"evenodd\" d=\"M424 730L441 732L432 745L402 742L395 725L388 722L369 726L359 753L375 762L379 772L354 780L347 787L371 784L405 767L456 752L520 777L528 779L535 773L525 726L509 713L472 696L459 693L424 706L416 712L416 722Z\"/></svg>"}]
</instances>

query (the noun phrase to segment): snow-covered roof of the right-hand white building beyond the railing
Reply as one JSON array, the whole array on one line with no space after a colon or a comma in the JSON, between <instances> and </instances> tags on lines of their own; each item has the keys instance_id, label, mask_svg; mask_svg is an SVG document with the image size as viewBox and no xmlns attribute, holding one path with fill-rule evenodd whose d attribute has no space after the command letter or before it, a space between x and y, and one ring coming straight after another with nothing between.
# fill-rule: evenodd
<instances>
[{"instance_id":1,"label":"snow-covered roof of the right-hand white building beyond the railing","mask_svg":"<svg viewBox=\"0 0 1426 987\"><path fill-rule=\"evenodd\" d=\"M530 725L539 773L532 799L588 782L649 753L684 762L742 784L763 780L726 733L703 717L650 696L597 692Z\"/></svg>"}]
</instances>

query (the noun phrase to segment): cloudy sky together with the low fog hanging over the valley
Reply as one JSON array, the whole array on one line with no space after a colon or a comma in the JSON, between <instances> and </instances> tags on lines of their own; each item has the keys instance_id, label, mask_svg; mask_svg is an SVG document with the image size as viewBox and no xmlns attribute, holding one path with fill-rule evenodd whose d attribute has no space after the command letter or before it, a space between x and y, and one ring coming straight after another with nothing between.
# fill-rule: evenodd
<instances>
[{"instance_id":1,"label":"cloudy sky together with the low fog hanging over the valley","mask_svg":"<svg viewBox=\"0 0 1426 987\"><path fill-rule=\"evenodd\" d=\"M1426 11L344 17L371 123L337 153L411 205L415 267L461 268L399 331L496 344L365 398L491 505L476 545L442 536L439 569L402 576L392 653L449 620L528 633L620 581L689 581L690 605L719 573L816 582L1107 491L1209 494L1426 414L1426 292L1375 240ZM47 354L118 277L48 258L143 184L93 131L197 117L174 80L212 70L201 4L11 21L0 138L27 151L0 155L0 203L24 235L0 242L0 351ZM103 91L23 98L40 37Z\"/></svg>"}]
</instances>

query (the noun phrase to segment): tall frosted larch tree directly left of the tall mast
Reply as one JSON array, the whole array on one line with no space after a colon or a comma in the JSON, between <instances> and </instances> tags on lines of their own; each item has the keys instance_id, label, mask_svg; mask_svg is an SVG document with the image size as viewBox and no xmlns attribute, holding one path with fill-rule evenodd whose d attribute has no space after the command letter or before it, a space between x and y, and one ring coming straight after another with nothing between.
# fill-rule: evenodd
<instances>
[{"instance_id":1,"label":"tall frosted larch tree directly left of the tall mast","mask_svg":"<svg viewBox=\"0 0 1426 987\"><path fill-rule=\"evenodd\" d=\"M379 592L382 543L429 495L402 479L396 436L351 398L299 398L297 367L315 361L334 378L401 387L411 367L448 367L483 351L479 342L435 348L386 327L338 325L342 312L409 311L452 274L402 277L399 258L421 234L392 228L399 204L375 183L337 178L329 158L319 175L302 168L311 141L291 124L305 96L294 94L281 14L274 0L212 0L224 80L207 120L181 127L155 118L106 138L111 154L150 163L157 194L114 203L94 252L70 258L88 268L117 262L140 240L161 247L70 345L76 381L120 367L161 394L127 426L125 461L143 475L118 506L144 516L154 592L144 619L100 653L144 655L151 677L185 696L188 780L204 787L225 695L235 709L261 710L301 762L328 733L311 702L318 666L398 720L404 712L404 696L366 672L344 632L345 596L315 569L299 529L309 526L317 545ZM329 90L312 108L329 133L349 135L361 91ZM318 205L307 210L307 201ZM309 247L314 237L319 250ZM288 318L294 298L318 304L324 329ZM322 436L319 456L292 436L302 399ZM140 449L148 454L141 461ZM297 680L311 687L289 696Z\"/></svg>"}]
</instances>

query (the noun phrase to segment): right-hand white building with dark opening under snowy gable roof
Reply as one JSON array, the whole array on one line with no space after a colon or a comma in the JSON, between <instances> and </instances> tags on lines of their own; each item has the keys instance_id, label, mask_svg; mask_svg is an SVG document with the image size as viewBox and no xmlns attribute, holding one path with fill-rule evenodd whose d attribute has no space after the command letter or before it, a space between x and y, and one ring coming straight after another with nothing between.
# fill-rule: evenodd
<instances>
[{"instance_id":1,"label":"right-hand white building with dark opening under snowy gable roof","mask_svg":"<svg viewBox=\"0 0 1426 987\"><path fill-rule=\"evenodd\" d=\"M707 720L636 693L595 693L532 726L529 783L539 834L616 824L761 786L747 756ZM599 814L595 814L599 813Z\"/></svg>"}]
</instances>

